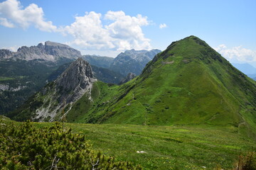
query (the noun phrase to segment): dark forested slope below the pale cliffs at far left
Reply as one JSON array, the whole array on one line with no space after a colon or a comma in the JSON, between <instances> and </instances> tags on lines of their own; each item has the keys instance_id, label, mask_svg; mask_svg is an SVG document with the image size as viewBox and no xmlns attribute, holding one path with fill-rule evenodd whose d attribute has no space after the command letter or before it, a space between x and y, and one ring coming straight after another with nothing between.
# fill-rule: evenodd
<instances>
[{"instance_id":1,"label":"dark forested slope below the pale cliffs at far left","mask_svg":"<svg viewBox=\"0 0 256 170\"><path fill-rule=\"evenodd\" d=\"M20 106L29 96L47 84L47 79L59 65L70 62L45 60L9 60L0 62L0 114Z\"/></svg>"}]
</instances>

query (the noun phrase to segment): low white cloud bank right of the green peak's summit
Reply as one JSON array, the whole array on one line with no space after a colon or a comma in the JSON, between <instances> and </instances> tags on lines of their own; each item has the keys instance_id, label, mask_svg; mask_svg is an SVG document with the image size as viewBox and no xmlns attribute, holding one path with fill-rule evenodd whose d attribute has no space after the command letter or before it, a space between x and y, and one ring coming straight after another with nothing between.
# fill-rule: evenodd
<instances>
[{"instance_id":1,"label":"low white cloud bank right of the green peak's summit","mask_svg":"<svg viewBox=\"0 0 256 170\"><path fill-rule=\"evenodd\" d=\"M242 45L230 48L219 45L215 50L230 62L256 62L256 51L246 49Z\"/></svg>"}]
</instances>

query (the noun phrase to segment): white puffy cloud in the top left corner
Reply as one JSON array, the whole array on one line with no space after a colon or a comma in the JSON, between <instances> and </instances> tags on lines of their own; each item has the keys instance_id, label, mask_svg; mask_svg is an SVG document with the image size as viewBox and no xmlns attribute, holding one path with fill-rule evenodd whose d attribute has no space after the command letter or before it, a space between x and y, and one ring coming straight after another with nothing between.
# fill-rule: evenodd
<instances>
[{"instance_id":1,"label":"white puffy cloud in the top left corner","mask_svg":"<svg viewBox=\"0 0 256 170\"><path fill-rule=\"evenodd\" d=\"M56 31L57 27L53 26L51 21L46 21L43 16L43 9L39 8L36 4L30 4L23 8L17 0L6 0L0 3L1 26L9 28L18 26L26 29L33 25L39 30Z\"/></svg>"}]
</instances>

